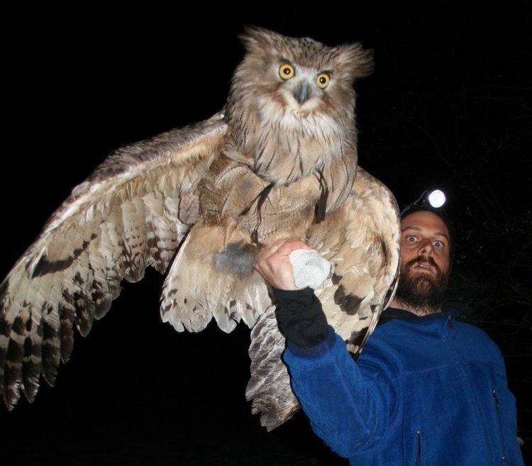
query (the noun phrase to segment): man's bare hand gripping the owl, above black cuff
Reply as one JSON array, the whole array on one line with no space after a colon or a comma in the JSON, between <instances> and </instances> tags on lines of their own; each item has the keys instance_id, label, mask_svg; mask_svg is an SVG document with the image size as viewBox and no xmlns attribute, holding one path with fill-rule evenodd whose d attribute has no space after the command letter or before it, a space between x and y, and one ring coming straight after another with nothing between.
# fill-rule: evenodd
<instances>
[{"instance_id":1,"label":"man's bare hand gripping the owl, above black cuff","mask_svg":"<svg viewBox=\"0 0 532 466\"><path fill-rule=\"evenodd\" d=\"M277 289L297 289L289 255L296 249L311 249L303 241L282 240L274 243L260 253L255 270L272 287Z\"/></svg>"}]
</instances>

